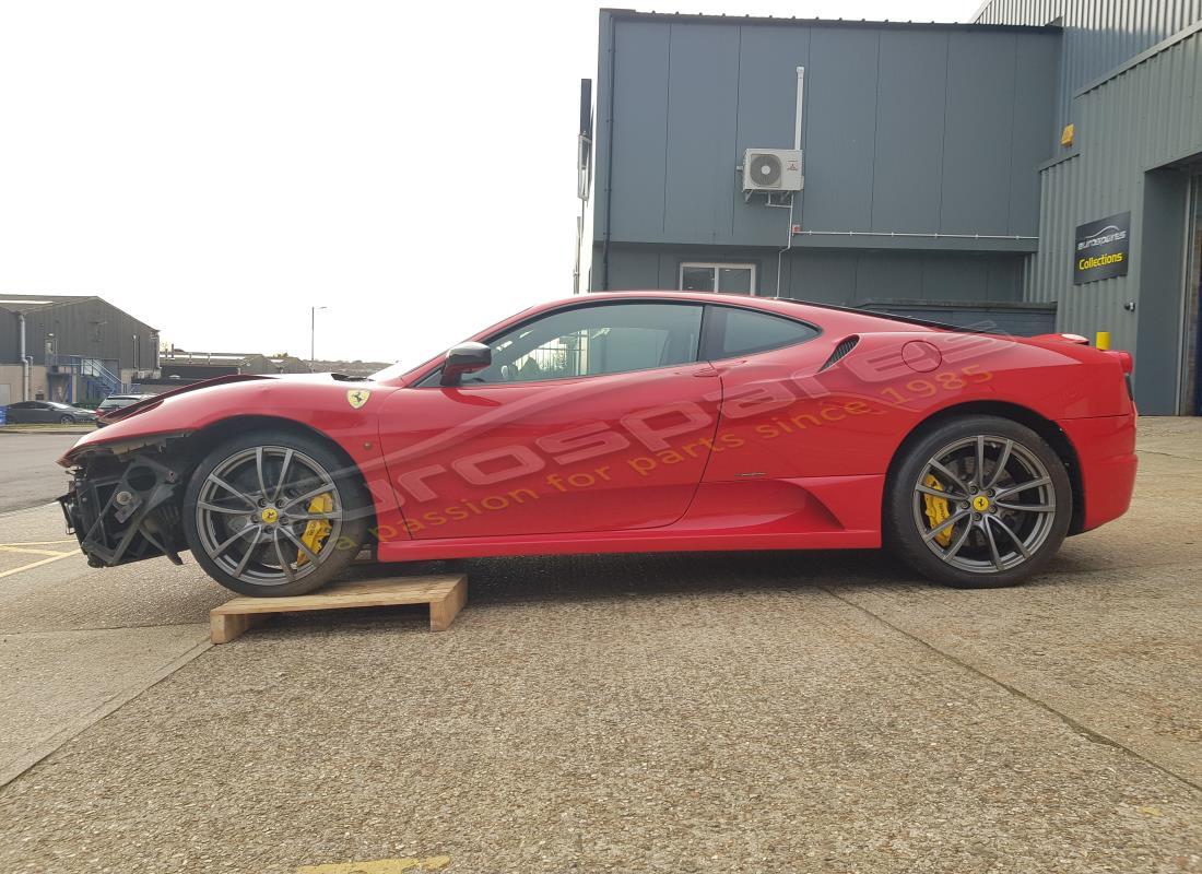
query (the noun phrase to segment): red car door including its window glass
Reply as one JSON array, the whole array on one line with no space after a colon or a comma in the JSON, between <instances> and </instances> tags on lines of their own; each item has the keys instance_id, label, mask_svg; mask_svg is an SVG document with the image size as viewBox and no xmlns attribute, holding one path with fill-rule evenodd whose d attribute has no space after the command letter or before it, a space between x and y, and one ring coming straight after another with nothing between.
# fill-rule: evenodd
<instances>
[{"instance_id":1,"label":"red car door including its window glass","mask_svg":"<svg viewBox=\"0 0 1202 874\"><path fill-rule=\"evenodd\" d=\"M718 421L698 362L701 305L571 304L487 338L493 363L435 371L381 406L410 535L487 537L656 528L679 519Z\"/></svg>"}]
</instances>

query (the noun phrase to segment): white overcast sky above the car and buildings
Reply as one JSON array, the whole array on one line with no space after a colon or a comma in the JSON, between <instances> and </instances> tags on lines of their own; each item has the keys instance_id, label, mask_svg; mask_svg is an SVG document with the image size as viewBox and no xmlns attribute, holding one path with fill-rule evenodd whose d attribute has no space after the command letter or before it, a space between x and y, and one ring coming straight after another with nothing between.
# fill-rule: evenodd
<instances>
[{"instance_id":1,"label":"white overcast sky above the car and buildings","mask_svg":"<svg viewBox=\"0 0 1202 874\"><path fill-rule=\"evenodd\" d=\"M184 349L302 357L325 305L317 357L412 363L566 297L597 8L2 0L0 292L101 295Z\"/></svg>"}]
</instances>

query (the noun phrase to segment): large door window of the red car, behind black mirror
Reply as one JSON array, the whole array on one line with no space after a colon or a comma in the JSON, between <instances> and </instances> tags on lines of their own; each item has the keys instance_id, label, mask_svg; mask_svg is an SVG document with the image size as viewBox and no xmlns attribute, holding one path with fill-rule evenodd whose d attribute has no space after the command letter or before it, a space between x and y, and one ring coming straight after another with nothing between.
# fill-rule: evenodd
<instances>
[{"instance_id":1,"label":"large door window of the red car, behind black mirror","mask_svg":"<svg viewBox=\"0 0 1202 874\"><path fill-rule=\"evenodd\" d=\"M559 310L494 338L493 363L464 385L534 382L697 361L700 304L599 303Z\"/></svg>"}]
</instances>

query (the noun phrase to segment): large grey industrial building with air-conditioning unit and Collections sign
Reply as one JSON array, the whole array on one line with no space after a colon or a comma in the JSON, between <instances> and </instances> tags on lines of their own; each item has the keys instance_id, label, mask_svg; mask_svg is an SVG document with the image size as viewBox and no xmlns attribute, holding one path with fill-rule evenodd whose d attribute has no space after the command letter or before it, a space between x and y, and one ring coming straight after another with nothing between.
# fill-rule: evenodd
<instances>
[{"instance_id":1,"label":"large grey industrial building with air-conditioning unit and Collections sign","mask_svg":"<svg viewBox=\"0 0 1202 874\"><path fill-rule=\"evenodd\" d=\"M1107 332L1142 411L1195 414L1200 31L1202 0L996 0L970 24L603 10L588 287Z\"/></svg>"}]
</instances>

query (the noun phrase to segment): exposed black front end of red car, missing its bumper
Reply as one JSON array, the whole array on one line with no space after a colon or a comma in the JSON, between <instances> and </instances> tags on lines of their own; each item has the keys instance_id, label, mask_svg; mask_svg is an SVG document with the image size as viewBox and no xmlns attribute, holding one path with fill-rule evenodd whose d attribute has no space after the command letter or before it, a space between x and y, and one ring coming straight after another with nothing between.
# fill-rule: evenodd
<instances>
[{"instance_id":1,"label":"exposed black front end of red car, missing its bumper","mask_svg":"<svg viewBox=\"0 0 1202 874\"><path fill-rule=\"evenodd\" d=\"M186 454L168 452L168 442L97 447L72 459L71 489L59 504L93 567L156 555L183 564Z\"/></svg>"}]
</instances>

